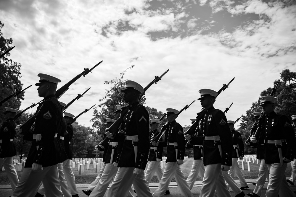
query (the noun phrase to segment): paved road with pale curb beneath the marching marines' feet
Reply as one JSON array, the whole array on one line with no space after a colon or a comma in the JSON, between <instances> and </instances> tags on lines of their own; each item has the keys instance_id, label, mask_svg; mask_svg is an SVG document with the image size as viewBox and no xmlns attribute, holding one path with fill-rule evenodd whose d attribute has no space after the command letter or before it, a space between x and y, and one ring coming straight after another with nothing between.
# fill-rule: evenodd
<instances>
[{"instance_id":1,"label":"paved road with pale curb beneath the marching marines' feet","mask_svg":"<svg viewBox=\"0 0 296 197\"><path fill-rule=\"evenodd\" d=\"M255 179L249 179L247 180L247 183L249 185L249 188L248 189L245 189L243 190L244 193L251 193L255 186L252 185L253 181ZM239 185L239 184L238 184ZM154 184L149 184L150 186L150 190L151 192L153 193L156 189L157 189L157 183L154 183ZM199 194L200 194L200 187L201 186L201 182L200 181L197 181L196 184L194 185L194 187L192 188L192 193L193 193L193 196L194 197L198 197ZM86 197L86 195L81 191L83 189L87 189L87 184L77 184L77 187L78 187L78 194L80 197ZM261 196L265 196L265 193L266 193L266 187L267 187L267 183L265 183L264 185L264 188L262 190L262 193L261 193ZM295 191L296 190L296 186L290 186L291 190L292 191ZM235 196L235 194L232 192L232 190L230 189L231 191L231 196ZM1 185L1 189L0 189L0 197L8 197L8 196L11 196L12 195L12 190L10 188L10 185L9 187L7 186L6 189L5 189L5 185ZM294 196L296 196L296 194L293 193ZM105 195L106 196L106 195ZM179 192L179 189L178 187L176 186L176 183L171 183L170 184L170 195L165 195L165 197L180 197L181 194ZM247 195L246 195L247 197Z\"/></svg>"}]
</instances>

